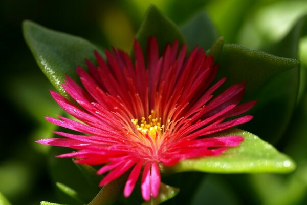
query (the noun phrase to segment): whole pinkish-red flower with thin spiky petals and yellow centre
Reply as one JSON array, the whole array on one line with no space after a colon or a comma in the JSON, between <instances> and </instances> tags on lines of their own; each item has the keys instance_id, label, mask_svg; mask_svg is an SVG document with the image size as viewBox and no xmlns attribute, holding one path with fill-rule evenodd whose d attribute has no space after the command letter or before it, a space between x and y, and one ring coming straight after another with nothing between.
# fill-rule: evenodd
<instances>
[{"instance_id":1,"label":"whole pinkish-red flower with thin spiky petals and yellow centre","mask_svg":"<svg viewBox=\"0 0 307 205\"><path fill-rule=\"evenodd\" d=\"M58 157L102 165L98 174L108 174L100 186L128 170L124 195L133 191L142 172L144 200L157 197L161 183L159 164L176 165L180 160L220 155L238 146L242 136L208 137L252 119L246 115L225 121L251 109L255 101L240 104L245 84L229 87L213 98L226 78L211 87L218 66L213 57L195 47L187 58L187 46L167 45L159 57L155 37L148 40L147 63L140 45L134 42L135 64L121 50L106 50L107 62L95 51L99 66L86 60L89 73L76 69L83 88L67 76L63 89L71 102L51 91L56 102L77 120L46 117L55 125L86 135L54 132L64 138L37 142L77 151ZM78 105L77 105L78 104Z\"/></svg>"}]
</instances>

